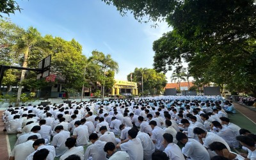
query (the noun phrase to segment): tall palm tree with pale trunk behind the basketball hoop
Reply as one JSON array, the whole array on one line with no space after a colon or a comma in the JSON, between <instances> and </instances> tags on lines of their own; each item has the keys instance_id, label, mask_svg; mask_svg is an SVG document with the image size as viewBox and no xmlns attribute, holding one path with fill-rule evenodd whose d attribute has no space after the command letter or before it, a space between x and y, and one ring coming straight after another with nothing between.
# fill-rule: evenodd
<instances>
[{"instance_id":1,"label":"tall palm tree with pale trunk behind the basketball hoop","mask_svg":"<svg viewBox=\"0 0 256 160\"><path fill-rule=\"evenodd\" d=\"M27 31L21 31L17 39L17 43L13 45L12 51L15 56L23 57L22 67L28 67L28 58L31 50L35 49L35 44L40 40L41 35L36 28L29 27ZM17 93L17 104L20 102L20 95L22 91L22 81L24 80L26 70L22 70L20 76L20 84Z\"/></svg>"}]
</instances>

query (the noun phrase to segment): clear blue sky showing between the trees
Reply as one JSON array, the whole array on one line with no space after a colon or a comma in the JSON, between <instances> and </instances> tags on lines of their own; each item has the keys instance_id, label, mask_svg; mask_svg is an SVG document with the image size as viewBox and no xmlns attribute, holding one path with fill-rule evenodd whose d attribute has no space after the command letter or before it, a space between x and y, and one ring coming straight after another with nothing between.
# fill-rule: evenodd
<instances>
[{"instance_id":1,"label":"clear blue sky showing between the trees","mask_svg":"<svg viewBox=\"0 0 256 160\"><path fill-rule=\"evenodd\" d=\"M172 31L166 22L140 23L128 14L122 17L115 6L101 0L17 0L21 12L10 15L18 26L33 26L44 35L74 38L85 56L93 50L111 54L118 62L115 79L127 80L134 68L153 68L152 44L163 33ZM186 64L185 64L186 65ZM166 77L170 83L172 72Z\"/></svg>"}]
</instances>

